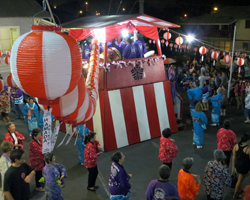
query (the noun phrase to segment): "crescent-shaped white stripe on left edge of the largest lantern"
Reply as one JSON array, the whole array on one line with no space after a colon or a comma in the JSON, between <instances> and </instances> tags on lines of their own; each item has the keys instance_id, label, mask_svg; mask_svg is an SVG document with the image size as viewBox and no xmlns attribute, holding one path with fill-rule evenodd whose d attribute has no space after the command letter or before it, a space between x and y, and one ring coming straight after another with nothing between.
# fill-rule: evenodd
<instances>
[{"instance_id":1,"label":"crescent-shaped white stripe on left edge of the largest lantern","mask_svg":"<svg viewBox=\"0 0 250 200\"><path fill-rule=\"evenodd\" d=\"M26 91L23 89L21 83L20 83L20 80L18 78L18 75L17 75L17 66L16 66L16 61L17 61L17 51L18 51L18 47L20 45L20 43L22 42L23 38L26 37L26 35L30 34L30 32L28 33L25 33L23 35L21 35L19 38L16 39L15 43L13 44L12 46L12 49L11 49L11 56L10 56L10 69L11 69L11 73L12 73L12 76L13 76L13 79L15 80L16 84L18 85L18 87L26 93Z\"/></svg>"}]
</instances>

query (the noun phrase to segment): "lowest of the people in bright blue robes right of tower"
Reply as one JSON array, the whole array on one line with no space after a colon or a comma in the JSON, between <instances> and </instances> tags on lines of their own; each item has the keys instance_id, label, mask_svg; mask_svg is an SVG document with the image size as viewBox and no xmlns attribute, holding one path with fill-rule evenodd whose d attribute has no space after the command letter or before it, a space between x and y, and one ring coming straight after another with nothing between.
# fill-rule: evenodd
<instances>
[{"instance_id":1,"label":"lowest of the people in bright blue robes right of tower","mask_svg":"<svg viewBox=\"0 0 250 200\"><path fill-rule=\"evenodd\" d=\"M203 143L203 130L206 129L207 124L207 117L205 113L202 112L201 103L196 104L192 119L194 126L193 145L196 145L197 149L201 149Z\"/></svg>"}]
</instances>

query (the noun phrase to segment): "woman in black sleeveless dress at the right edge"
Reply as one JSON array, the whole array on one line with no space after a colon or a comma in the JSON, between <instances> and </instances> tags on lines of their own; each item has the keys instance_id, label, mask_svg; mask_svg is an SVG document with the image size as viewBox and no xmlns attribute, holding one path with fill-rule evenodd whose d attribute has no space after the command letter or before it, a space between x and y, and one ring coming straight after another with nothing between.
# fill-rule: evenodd
<instances>
[{"instance_id":1,"label":"woman in black sleeveless dress at the right edge","mask_svg":"<svg viewBox=\"0 0 250 200\"><path fill-rule=\"evenodd\" d=\"M233 159L232 168L236 169L238 173L238 181L235 186L233 198L239 198L239 195L243 192L241 185L244 179L247 177L250 170L250 148L248 141L250 140L250 135L244 133L241 140L233 148Z\"/></svg>"}]
</instances>

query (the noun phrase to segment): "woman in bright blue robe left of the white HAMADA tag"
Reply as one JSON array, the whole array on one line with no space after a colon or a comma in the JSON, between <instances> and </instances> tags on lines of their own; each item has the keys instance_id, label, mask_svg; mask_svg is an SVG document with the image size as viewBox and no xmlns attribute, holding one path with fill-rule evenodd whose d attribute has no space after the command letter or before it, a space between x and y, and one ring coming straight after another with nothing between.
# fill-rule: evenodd
<instances>
[{"instance_id":1,"label":"woman in bright blue robe left of the white HAMADA tag","mask_svg":"<svg viewBox=\"0 0 250 200\"><path fill-rule=\"evenodd\" d=\"M24 120L28 123L28 133L31 136L32 130L38 128L37 120L39 119L38 106L32 97L29 97L29 102L22 110Z\"/></svg>"}]
</instances>

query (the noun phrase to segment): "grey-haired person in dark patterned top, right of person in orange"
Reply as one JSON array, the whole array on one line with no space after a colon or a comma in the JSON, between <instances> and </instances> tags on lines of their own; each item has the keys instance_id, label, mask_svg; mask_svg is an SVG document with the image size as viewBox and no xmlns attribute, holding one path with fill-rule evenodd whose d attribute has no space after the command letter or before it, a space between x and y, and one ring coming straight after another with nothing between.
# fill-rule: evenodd
<instances>
[{"instance_id":1,"label":"grey-haired person in dark patterned top, right of person in orange","mask_svg":"<svg viewBox=\"0 0 250 200\"><path fill-rule=\"evenodd\" d=\"M214 151L214 161L205 167L203 183L208 200L223 199L224 186L231 186L231 175L223 162L226 156L222 150Z\"/></svg>"}]
</instances>

